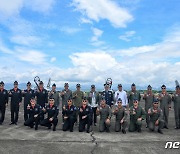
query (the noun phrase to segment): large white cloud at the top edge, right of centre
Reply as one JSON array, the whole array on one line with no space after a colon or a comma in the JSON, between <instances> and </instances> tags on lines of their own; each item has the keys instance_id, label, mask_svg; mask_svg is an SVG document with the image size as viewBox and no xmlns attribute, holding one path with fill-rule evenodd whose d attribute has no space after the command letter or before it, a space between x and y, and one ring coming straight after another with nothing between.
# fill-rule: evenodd
<instances>
[{"instance_id":1,"label":"large white cloud at the top edge, right of centre","mask_svg":"<svg viewBox=\"0 0 180 154\"><path fill-rule=\"evenodd\" d=\"M126 27L133 20L127 9L111 0L73 0L72 6L86 18L96 22L106 19L114 27Z\"/></svg>"}]
</instances>

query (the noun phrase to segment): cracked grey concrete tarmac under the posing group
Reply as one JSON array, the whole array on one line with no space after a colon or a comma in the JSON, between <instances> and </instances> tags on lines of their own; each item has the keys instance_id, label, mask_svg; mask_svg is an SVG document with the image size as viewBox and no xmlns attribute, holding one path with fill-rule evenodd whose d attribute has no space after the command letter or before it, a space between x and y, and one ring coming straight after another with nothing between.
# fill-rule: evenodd
<instances>
[{"instance_id":1,"label":"cracked grey concrete tarmac under the posing group","mask_svg":"<svg viewBox=\"0 0 180 154\"><path fill-rule=\"evenodd\" d=\"M141 102L143 105L144 102ZM38 131L23 125L23 109L21 106L18 125L9 125L10 111L6 111L5 122L0 125L0 154L179 154L180 149L165 149L167 141L180 142L180 129L174 129L174 111L170 111L169 129L164 134L149 132L143 121L142 133L122 134L114 132L114 118L110 133L98 132L98 126L92 127L91 133L79 133L75 126L74 132L61 130L62 119L59 115L57 131L39 127Z\"/></svg>"}]
</instances>

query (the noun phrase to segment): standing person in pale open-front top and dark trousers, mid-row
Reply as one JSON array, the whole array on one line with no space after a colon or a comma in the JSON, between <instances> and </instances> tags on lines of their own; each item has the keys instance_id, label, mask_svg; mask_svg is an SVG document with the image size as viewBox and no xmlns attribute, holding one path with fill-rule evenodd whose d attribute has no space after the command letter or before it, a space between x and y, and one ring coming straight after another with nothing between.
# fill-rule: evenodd
<instances>
[{"instance_id":1,"label":"standing person in pale open-front top and dark trousers, mid-row","mask_svg":"<svg viewBox=\"0 0 180 154\"><path fill-rule=\"evenodd\" d=\"M93 110L93 122L94 126L96 126L97 123L97 115L96 110L99 103L99 93L96 91L95 85L91 85L91 91L88 93L88 102L89 105L92 107Z\"/></svg>"}]
</instances>

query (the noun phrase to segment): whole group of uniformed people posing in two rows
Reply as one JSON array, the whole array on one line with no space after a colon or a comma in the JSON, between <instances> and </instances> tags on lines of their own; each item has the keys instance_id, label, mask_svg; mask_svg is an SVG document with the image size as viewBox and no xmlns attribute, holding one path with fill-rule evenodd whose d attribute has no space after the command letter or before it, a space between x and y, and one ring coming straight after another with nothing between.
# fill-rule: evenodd
<instances>
[{"instance_id":1,"label":"whole group of uniformed people posing in two rows","mask_svg":"<svg viewBox=\"0 0 180 154\"><path fill-rule=\"evenodd\" d=\"M150 131L157 131L163 134L162 129L168 129L168 116L171 110L171 102L174 102L175 125L180 129L180 86L176 86L175 93L171 96L166 91L166 86L162 85L162 92L155 95L149 85L143 95L145 109L139 104L141 95L136 90L136 85L131 85L131 91L123 90L118 84L118 90L113 92L108 83L104 84L104 90L97 92L95 85L91 85L90 92L81 91L81 85L76 85L76 91L69 89L69 84L64 84L61 92L56 91L56 85L48 92L41 81L37 90L31 88L31 83L27 83L26 90L18 88L18 82L14 82L14 88L7 91L4 89L4 82L0 82L0 124L5 118L6 106L10 100L11 123L17 125L19 117L19 107L24 100L24 125L30 128L45 126L56 131L58 124L58 114L62 113L63 131L73 132L74 125L79 124L79 132L89 133L91 126L97 125L97 116L100 116L99 131L110 132L112 117L115 117L115 131L122 131L126 134L128 127L128 115L130 116L129 131L141 132L142 121L146 119L146 128ZM24 97L24 99L22 99ZM60 97L62 108L59 111ZM62 111L62 112L61 112Z\"/></svg>"}]
</instances>

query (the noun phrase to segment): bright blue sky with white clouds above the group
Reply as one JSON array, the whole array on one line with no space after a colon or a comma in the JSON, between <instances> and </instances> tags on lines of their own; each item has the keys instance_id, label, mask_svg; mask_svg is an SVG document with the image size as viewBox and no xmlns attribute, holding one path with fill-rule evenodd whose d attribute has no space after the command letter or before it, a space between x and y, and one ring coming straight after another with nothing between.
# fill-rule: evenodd
<instances>
[{"instance_id":1,"label":"bright blue sky with white clouds above the group","mask_svg":"<svg viewBox=\"0 0 180 154\"><path fill-rule=\"evenodd\" d=\"M175 87L179 0L0 0L0 80Z\"/></svg>"}]
</instances>

